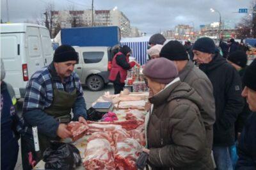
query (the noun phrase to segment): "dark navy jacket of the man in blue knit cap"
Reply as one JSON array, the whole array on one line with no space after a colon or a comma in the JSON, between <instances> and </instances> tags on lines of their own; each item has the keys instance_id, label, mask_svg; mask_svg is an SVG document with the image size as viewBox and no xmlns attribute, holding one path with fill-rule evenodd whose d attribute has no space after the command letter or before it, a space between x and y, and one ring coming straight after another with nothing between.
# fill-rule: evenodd
<instances>
[{"instance_id":1,"label":"dark navy jacket of the man in blue knit cap","mask_svg":"<svg viewBox=\"0 0 256 170\"><path fill-rule=\"evenodd\" d=\"M216 122L213 145L231 146L235 141L234 124L244 107L239 73L220 54L216 54L210 63L201 64L199 68L212 82L214 91Z\"/></svg>"}]
</instances>

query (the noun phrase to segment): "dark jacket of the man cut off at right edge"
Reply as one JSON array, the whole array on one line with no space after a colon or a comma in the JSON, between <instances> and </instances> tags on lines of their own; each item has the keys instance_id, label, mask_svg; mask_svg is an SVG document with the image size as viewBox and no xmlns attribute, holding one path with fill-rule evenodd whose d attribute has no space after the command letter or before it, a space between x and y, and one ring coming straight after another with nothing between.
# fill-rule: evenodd
<instances>
[{"instance_id":1,"label":"dark jacket of the man cut off at right edge","mask_svg":"<svg viewBox=\"0 0 256 170\"><path fill-rule=\"evenodd\" d=\"M253 112L241 133L236 170L256 169L256 112Z\"/></svg>"}]
</instances>

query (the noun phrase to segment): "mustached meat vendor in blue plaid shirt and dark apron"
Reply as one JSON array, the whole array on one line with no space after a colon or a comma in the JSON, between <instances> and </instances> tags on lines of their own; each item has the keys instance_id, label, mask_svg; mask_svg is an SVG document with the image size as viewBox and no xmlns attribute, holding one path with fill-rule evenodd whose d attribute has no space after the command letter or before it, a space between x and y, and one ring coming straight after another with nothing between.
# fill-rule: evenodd
<instances>
[{"instance_id":1,"label":"mustached meat vendor in blue plaid shirt and dark apron","mask_svg":"<svg viewBox=\"0 0 256 170\"><path fill-rule=\"evenodd\" d=\"M23 169L32 169L42 159L51 140L70 137L66 124L71 120L87 125L83 89L74 72L78 59L73 47L61 45L55 50L52 63L35 72L28 81L23 116L30 133L21 139ZM37 127L40 151L35 148L33 127Z\"/></svg>"}]
</instances>

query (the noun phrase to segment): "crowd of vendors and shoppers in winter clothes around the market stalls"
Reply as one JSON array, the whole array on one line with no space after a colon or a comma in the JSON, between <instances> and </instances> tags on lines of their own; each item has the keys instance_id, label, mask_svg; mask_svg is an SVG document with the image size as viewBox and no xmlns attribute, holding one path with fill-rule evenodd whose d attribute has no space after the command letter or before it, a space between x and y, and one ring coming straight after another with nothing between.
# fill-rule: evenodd
<instances>
[{"instance_id":1,"label":"crowd of vendors and shoppers in winter clothes around the market stalls","mask_svg":"<svg viewBox=\"0 0 256 170\"><path fill-rule=\"evenodd\" d=\"M147 167L255 169L256 60L246 65L246 53L232 39L226 51L220 43L223 55L207 37L182 45L156 34L149 45L151 59L143 68L150 89L143 148ZM124 45L113 57L109 80L115 94L124 88L127 70L138 65L129 62L130 54ZM29 79L21 117L1 61L1 169L14 169L19 138L22 167L32 169L52 139L70 137L66 123L87 124L83 88L74 72L77 61L74 48L58 47L51 65ZM32 127L37 127L40 151Z\"/></svg>"}]
</instances>

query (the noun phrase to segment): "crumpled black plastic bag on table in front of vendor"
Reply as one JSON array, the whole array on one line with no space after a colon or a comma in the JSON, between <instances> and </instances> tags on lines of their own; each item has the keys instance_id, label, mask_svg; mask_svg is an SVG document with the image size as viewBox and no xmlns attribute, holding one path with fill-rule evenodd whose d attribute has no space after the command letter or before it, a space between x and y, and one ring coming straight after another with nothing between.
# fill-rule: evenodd
<instances>
[{"instance_id":1,"label":"crumpled black plastic bag on table in front of vendor","mask_svg":"<svg viewBox=\"0 0 256 170\"><path fill-rule=\"evenodd\" d=\"M51 146L44 151L45 169L74 169L81 164L81 156L76 146L69 143L51 141Z\"/></svg>"}]
</instances>

